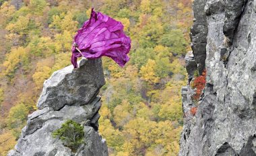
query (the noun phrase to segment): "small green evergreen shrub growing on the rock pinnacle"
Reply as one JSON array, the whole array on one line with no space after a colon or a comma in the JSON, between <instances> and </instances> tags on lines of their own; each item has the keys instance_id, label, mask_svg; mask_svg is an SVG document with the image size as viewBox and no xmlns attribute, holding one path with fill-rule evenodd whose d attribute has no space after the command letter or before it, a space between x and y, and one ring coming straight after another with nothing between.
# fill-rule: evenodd
<instances>
[{"instance_id":1,"label":"small green evergreen shrub growing on the rock pinnacle","mask_svg":"<svg viewBox=\"0 0 256 156\"><path fill-rule=\"evenodd\" d=\"M63 145L75 153L84 141L84 127L75 121L67 120L60 129L53 132L53 137L61 139Z\"/></svg>"}]
</instances>

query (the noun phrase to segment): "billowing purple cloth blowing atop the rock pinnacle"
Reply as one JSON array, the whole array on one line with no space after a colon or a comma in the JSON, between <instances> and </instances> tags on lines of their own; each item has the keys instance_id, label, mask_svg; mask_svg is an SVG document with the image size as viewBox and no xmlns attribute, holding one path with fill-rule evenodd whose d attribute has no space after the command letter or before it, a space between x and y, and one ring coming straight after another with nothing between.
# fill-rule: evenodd
<instances>
[{"instance_id":1,"label":"billowing purple cloth blowing atop the rock pinnacle","mask_svg":"<svg viewBox=\"0 0 256 156\"><path fill-rule=\"evenodd\" d=\"M92 9L90 19L78 29L73 40L71 62L74 68L77 68L77 58L82 56L76 48L85 58L108 56L123 67L129 61L127 54L131 40L125 35L120 21Z\"/></svg>"}]
</instances>

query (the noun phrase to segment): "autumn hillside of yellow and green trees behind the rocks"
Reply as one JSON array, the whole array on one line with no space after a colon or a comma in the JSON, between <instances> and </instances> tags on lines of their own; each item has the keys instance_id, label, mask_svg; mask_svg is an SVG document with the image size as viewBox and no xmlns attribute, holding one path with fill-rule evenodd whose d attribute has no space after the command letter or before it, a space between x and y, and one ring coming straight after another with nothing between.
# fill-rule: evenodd
<instances>
[{"instance_id":1,"label":"autumn hillside of yellow and green trees behind the rocks","mask_svg":"<svg viewBox=\"0 0 256 156\"><path fill-rule=\"evenodd\" d=\"M111 156L177 155L191 0L0 0L0 156L13 149L44 80L71 64L91 7L121 21L130 61L102 58L99 132Z\"/></svg>"}]
</instances>

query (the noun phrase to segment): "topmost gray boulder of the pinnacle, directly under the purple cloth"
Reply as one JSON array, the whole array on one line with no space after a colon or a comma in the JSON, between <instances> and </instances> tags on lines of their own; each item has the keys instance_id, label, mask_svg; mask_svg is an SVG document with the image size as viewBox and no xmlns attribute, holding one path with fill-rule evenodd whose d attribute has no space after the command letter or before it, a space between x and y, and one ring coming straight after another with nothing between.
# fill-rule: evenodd
<instances>
[{"instance_id":1,"label":"topmost gray boulder of the pinnacle, directly under the purple cloth","mask_svg":"<svg viewBox=\"0 0 256 156\"><path fill-rule=\"evenodd\" d=\"M100 59L82 60L80 68L67 66L44 82L37 106L59 110L65 105L87 104L105 84ZM75 96L74 96L75 95Z\"/></svg>"}]
</instances>

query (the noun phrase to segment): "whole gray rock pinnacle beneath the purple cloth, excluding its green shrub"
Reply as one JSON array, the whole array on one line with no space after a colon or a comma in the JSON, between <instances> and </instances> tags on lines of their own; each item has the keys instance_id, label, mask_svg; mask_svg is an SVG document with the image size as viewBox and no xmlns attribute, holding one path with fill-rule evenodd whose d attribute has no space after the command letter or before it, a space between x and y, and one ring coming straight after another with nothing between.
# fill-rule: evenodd
<instances>
[{"instance_id":1,"label":"whole gray rock pinnacle beneath the purple cloth, excluding its green shrub","mask_svg":"<svg viewBox=\"0 0 256 156\"><path fill-rule=\"evenodd\" d=\"M102 62L82 60L79 68L67 66L44 82L38 108L28 115L26 127L8 156L107 156L106 141L98 134L100 88L105 84ZM71 119L84 125L84 144L77 153L63 146L52 132Z\"/></svg>"}]
</instances>

